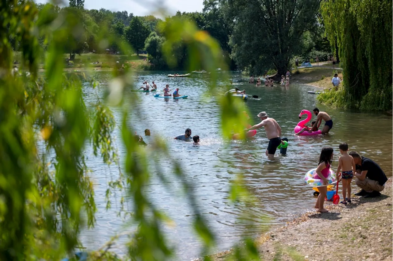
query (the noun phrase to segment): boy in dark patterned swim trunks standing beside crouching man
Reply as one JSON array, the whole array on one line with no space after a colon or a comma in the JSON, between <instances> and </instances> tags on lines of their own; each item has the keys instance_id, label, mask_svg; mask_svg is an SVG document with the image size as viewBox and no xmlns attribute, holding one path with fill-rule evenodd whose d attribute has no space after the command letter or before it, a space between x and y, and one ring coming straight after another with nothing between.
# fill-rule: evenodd
<instances>
[{"instance_id":1,"label":"boy in dark patterned swim trunks standing beside crouching man","mask_svg":"<svg viewBox=\"0 0 393 261\"><path fill-rule=\"evenodd\" d=\"M342 143L339 146L341 156L338 158L338 167L336 172L336 177L341 170L341 179L343 182L343 201L342 204L351 203L351 181L353 178L353 173L356 170L355 162L351 155L348 155L348 144ZM346 193L348 192L348 197Z\"/></svg>"}]
</instances>

